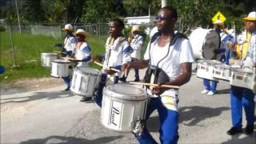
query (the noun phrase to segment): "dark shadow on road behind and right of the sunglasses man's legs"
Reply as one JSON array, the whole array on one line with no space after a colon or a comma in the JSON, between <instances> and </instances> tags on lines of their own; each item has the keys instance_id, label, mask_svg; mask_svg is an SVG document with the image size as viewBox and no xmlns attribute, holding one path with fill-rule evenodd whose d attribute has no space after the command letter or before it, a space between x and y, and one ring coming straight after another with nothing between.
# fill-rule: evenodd
<instances>
[{"instance_id":1,"label":"dark shadow on road behind and right of the sunglasses man's legs","mask_svg":"<svg viewBox=\"0 0 256 144\"><path fill-rule=\"evenodd\" d=\"M179 122L186 126L195 126L199 122L207 119L218 117L222 114L222 111L230 110L229 107L218 107L211 108L205 106L185 106L180 108L179 111ZM187 123L188 122L188 123ZM158 116L150 117L147 121L147 128L152 132L157 132L159 129Z\"/></svg>"}]
</instances>

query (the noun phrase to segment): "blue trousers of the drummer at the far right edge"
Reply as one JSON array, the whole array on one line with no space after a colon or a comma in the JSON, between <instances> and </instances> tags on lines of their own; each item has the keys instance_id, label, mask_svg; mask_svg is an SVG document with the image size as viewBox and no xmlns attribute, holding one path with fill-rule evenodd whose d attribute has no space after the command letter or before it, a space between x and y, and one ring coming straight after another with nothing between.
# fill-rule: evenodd
<instances>
[{"instance_id":1,"label":"blue trousers of the drummer at the far right edge","mask_svg":"<svg viewBox=\"0 0 256 144\"><path fill-rule=\"evenodd\" d=\"M254 93L252 90L238 86L230 89L232 126L242 130L242 106L246 112L247 125L254 124Z\"/></svg>"}]
</instances>

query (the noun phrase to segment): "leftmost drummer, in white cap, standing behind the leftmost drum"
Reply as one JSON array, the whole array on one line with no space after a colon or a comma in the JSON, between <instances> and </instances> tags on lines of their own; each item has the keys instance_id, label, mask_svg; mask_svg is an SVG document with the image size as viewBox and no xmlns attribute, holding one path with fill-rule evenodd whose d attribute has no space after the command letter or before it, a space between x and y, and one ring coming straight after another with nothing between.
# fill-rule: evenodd
<instances>
[{"instance_id":1,"label":"leftmost drummer, in white cap, standing behind the leftmost drum","mask_svg":"<svg viewBox=\"0 0 256 144\"><path fill-rule=\"evenodd\" d=\"M63 46L62 52L67 54L68 56L70 56L70 55L74 54L74 49L75 49L77 40L73 34L74 29L73 29L72 25L66 24L63 30L66 31L66 36L64 39L64 46ZM59 45L59 44L57 44L57 45ZM71 82L70 77L62 77L62 79L66 83L65 90L70 90L70 82Z\"/></svg>"}]
</instances>

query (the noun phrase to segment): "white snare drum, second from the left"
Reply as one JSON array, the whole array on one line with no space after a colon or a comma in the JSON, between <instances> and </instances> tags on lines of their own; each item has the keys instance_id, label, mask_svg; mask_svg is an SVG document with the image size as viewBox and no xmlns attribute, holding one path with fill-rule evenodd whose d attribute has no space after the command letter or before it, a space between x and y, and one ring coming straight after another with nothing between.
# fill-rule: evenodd
<instances>
[{"instance_id":1,"label":"white snare drum, second from the left","mask_svg":"<svg viewBox=\"0 0 256 144\"><path fill-rule=\"evenodd\" d=\"M65 59L54 59L51 62L51 76L61 78L69 77L72 73L71 62Z\"/></svg>"}]
</instances>

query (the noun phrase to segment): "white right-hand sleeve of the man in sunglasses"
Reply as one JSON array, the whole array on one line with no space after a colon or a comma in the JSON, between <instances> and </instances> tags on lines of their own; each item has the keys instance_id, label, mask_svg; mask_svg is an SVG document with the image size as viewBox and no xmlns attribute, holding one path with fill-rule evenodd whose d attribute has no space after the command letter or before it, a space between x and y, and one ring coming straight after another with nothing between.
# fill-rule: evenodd
<instances>
[{"instance_id":1,"label":"white right-hand sleeve of the man in sunglasses","mask_svg":"<svg viewBox=\"0 0 256 144\"><path fill-rule=\"evenodd\" d=\"M190 41L182 39L179 63L194 62L194 56Z\"/></svg>"}]
</instances>

